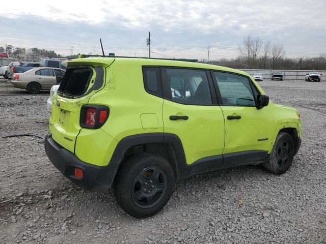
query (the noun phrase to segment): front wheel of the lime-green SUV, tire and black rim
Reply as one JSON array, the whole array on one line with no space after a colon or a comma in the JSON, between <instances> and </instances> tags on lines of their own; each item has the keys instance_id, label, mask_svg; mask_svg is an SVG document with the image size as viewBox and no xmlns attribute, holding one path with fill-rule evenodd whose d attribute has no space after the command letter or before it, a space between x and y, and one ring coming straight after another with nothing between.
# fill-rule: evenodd
<instances>
[{"instance_id":1,"label":"front wheel of the lime-green SUV, tire and black rim","mask_svg":"<svg viewBox=\"0 0 326 244\"><path fill-rule=\"evenodd\" d=\"M283 174L290 168L293 157L294 142L292 137L286 132L280 132L269 155L269 160L263 163L263 166L272 173Z\"/></svg>"}]
</instances>

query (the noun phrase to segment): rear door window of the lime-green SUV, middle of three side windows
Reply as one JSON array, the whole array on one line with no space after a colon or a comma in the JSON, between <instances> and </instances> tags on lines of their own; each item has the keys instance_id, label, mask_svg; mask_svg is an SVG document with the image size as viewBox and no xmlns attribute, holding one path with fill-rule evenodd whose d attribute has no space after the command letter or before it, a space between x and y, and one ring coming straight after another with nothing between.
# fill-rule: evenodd
<instances>
[{"instance_id":1,"label":"rear door window of the lime-green SUV, middle of three side windows","mask_svg":"<svg viewBox=\"0 0 326 244\"><path fill-rule=\"evenodd\" d=\"M206 72L167 68L172 101L189 105L212 104Z\"/></svg>"}]
</instances>

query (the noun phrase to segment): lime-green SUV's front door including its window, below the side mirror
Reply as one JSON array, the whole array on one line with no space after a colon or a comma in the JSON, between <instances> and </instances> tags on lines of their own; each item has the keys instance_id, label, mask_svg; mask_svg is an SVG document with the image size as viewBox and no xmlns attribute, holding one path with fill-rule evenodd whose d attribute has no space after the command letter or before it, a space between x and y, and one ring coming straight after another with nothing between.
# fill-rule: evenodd
<instances>
[{"instance_id":1,"label":"lime-green SUV's front door including its window, below the side mirror","mask_svg":"<svg viewBox=\"0 0 326 244\"><path fill-rule=\"evenodd\" d=\"M218 96L220 96L220 105L225 119L226 139L223 150L225 159L228 158L228 154L247 155L248 161L265 157L273 136L273 117L269 112L270 107L257 109L258 90L248 77L216 71L212 74L213 81L219 88ZM242 159L246 160L244 157ZM225 163L243 162L225 160Z\"/></svg>"}]
</instances>

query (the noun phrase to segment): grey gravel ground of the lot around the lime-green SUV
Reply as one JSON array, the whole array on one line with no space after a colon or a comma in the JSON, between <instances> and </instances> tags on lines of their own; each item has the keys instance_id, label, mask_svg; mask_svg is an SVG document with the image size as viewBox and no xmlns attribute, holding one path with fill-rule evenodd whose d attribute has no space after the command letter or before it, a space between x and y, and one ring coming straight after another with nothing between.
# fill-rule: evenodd
<instances>
[{"instance_id":1,"label":"grey gravel ground of the lot around the lime-green SUV","mask_svg":"<svg viewBox=\"0 0 326 244\"><path fill-rule=\"evenodd\" d=\"M303 142L283 175L244 166L179 180L156 216L138 220L108 193L75 186L47 159L49 93L0 79L1 243L326 243L326 82L260 82L300 110Z\"/></svg>"}]
</instances>

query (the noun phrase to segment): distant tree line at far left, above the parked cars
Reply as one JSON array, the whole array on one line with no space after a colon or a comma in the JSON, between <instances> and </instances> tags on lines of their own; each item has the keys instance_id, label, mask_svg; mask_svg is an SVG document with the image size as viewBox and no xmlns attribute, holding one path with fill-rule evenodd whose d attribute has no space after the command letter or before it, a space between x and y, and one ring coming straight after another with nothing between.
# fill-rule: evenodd
<instances>
[{"instance_id":1,"label":"distant tree line at far left, above the parked cars","mask_svg":"<svg viewBox=\"0 0 326 244\"><path fill-rule=\"evenodd\" d=\"M46 56L46 57L61 57L59 53L56 53L53 50L47 50L47 49L39 49L37 47L33 48L20 48L20 47L14 47L12 45L7 45L7 49L4 47L0 47L0 52L7 52L10 57L18 57L20 54L29 54L29 55L35 55L35 56Z\"/></svg>"}]
</instances>

